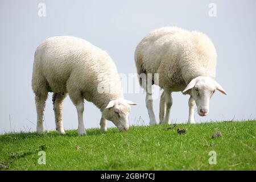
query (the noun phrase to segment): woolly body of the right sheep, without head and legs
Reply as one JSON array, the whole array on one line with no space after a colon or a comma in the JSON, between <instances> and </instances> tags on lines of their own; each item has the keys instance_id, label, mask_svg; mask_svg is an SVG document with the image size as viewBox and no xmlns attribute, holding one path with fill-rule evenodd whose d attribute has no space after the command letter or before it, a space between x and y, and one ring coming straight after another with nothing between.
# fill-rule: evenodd
<instances>
[{"instance_id":1,"label":"woolly body of the right sheep, without head and legs","mask_svg":"<svg viewBox=\"0 0 256 182\"><path fill-rule=\"evenodd\" d=\"M181 91L197 76L215 77L216 50L207 35L177 27L151 31L138 44L138 74L159 73L159 86Z\"/></svg>"}]
</instances>

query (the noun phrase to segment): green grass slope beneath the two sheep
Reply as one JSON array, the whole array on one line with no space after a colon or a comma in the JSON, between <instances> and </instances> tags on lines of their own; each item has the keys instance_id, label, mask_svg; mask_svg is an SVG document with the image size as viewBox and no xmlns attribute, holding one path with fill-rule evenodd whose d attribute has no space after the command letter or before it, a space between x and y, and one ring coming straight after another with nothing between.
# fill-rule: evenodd
<instances>
[{"instance_id":1,"label":"green grass slope beneath the two sheep","mask_svg":"<svg viewBox=\"0 0 256 182\"><path fill-rule=\"evenodd\" d=\"M0 170L256 170L256 121L0 135ZM177 134L177 129L186 134ZM222 137L212 138L216 131ZM38 151L46 151L39 165ZM208 155L216 151L217 164ZM8 168L5 168L8 167Z\"/></svg>"}]
</instances>

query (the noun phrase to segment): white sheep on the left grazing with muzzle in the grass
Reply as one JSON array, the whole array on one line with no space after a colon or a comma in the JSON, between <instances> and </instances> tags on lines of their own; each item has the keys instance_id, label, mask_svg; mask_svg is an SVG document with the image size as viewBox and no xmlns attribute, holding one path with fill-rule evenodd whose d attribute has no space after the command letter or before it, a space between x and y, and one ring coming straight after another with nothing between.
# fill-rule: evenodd
<instances>
[{"instance_id":1,"label":"white sheep on the left grazing with muzzle in the grass","mask_svg":"<svg viewBox=\"0 0 256 182\"><path fill-rule=\"evenodd\" d=\"M105 90L102 89L104 86ZM67 95L76 106L79 135L86 135L84 99L101 110L102 131L107 130L106 120L112 121L119 130L128 130L130 105L136 105L123 98L117 68L108 53L73 36L48 38L38 46L32 72L32 90L35 93L36 131L39 134L44 132L43 112L48 92L53 92L56 130L60 134L65 134L62 102Z\"/></svg>"}]
</instances>

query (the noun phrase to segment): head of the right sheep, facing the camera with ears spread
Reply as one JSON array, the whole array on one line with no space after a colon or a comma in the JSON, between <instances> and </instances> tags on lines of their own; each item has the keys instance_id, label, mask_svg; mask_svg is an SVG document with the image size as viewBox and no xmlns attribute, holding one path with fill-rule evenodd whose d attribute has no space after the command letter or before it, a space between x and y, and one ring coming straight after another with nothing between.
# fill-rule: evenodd
<instances>
[{"instance_id":1,"label":"head of the right sheep, facing the camera with ears spread","mask_svg":"<svg viewBox=\"0 0 256 182\"><path fill-rule=\"evenodd\" d=\"M209 113L209 102L215 90L227 94L224 89L210 77L199 76L189 82L183 93L191 91L190 94L196 102L197 113L205 116Z\"/></svg>"}]
</instances>

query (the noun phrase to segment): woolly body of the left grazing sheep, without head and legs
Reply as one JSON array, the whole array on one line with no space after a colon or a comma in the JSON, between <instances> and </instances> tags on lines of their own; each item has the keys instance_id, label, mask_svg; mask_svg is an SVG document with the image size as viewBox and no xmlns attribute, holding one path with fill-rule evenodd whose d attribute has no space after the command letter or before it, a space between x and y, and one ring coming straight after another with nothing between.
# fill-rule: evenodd
<instances>
[{"instance_id":1,"label":"woolly body of the left grazing sheep, without head and legs","mask_svg":"<svg viewBox=\"0 0 256 182\"><path fill-rule=\"evenodd\" d=\"M98 79L102 74L104 80ZM100 81L115 85L115 92L97 91ZM40 92L69 93L80 90L85 100L101 110L109 101L123 98L123 90L114 62L100 48L72 36L48 38L35 52L32 89Z\"/></svg>"}]
</instances>

